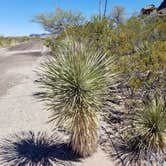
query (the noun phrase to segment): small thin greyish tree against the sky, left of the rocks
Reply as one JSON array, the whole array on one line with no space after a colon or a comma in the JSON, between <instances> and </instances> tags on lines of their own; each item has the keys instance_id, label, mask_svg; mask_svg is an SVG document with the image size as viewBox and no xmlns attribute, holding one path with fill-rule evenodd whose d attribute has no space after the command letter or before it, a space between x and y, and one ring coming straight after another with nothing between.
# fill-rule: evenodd
<instances>
[{"instance_id":1,"label":"small thin greyish tree against the sky, left of the rocks","mask_svg":"<svg viewBox=\"0 0 166 166\"><path fill-rule=\"evenodd\" d=\"M123 6L115 6L111 12L111 17L117 24L124 22L125 8Z\"/></svg>"}]
</instances>

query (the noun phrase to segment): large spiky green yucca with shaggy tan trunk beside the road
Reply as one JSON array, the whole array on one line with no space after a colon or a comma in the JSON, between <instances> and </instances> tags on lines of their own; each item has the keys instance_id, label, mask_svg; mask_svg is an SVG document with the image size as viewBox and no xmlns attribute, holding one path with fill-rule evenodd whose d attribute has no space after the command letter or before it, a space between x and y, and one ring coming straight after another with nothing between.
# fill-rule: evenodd
<instances>
[{"instance_id":1,"label":"large spiky green yucca with shaggy tan trunk beside the road","mask_svg":"<svg viewBox=\"0 0 166 166\"><path fill-rule=\"evenodd\" d=\"M50 121L65 127L73 151L86 157L96 151L97 112L108 86L115 85L114 58L86 41L68 39L64 45L42 65L43 98L52 111Z\"/></svg>"}]
</instances>

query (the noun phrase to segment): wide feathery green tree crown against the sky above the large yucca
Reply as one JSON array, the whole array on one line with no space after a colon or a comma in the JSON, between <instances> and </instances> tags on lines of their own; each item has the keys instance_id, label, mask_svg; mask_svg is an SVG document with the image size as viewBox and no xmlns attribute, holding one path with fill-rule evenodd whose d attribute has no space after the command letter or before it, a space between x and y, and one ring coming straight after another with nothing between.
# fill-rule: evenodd
<instances>
[{"instance_id":1,"label":"wide feathery green tree crown against the sky above the large yucca","mask_svg":"<svg viewBox=\"0 0 166 166\"><path fill-rule=\"evenodd\" d=\"M36 15L33 21L41 24L46 31L57 33L67 27L82 25L85 18L80 12L64 11L57 8L53 13Z\"/></svg>"}]
</instances>

